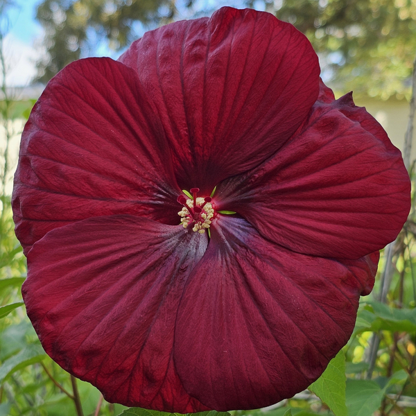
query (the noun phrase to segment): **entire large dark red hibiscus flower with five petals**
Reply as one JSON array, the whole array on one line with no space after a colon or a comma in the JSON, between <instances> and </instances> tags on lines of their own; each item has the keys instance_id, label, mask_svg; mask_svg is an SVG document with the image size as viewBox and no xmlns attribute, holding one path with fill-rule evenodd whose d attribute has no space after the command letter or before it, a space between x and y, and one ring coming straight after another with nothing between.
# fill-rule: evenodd
<instances>
[{"instance_id":1,"label":"entire large dark red hibiscus flower with five petals","mask_svg":"<svg viewBox=\"0 0 416 416\"><path fill-rule=\"evenodd\" d=\"M51 80L13 209L53 360L108 401L180 413L259 408L320 376L410 182L319 75L293 26L222 8Z\"/></svg>"}]
</instances>

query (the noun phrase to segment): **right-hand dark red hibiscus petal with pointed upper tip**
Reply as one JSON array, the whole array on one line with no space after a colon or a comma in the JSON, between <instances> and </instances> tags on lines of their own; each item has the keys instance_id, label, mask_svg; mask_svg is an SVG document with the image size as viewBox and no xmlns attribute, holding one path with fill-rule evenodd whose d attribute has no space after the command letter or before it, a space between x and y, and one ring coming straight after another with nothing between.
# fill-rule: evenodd
<instances>
[{"instance_id":1,"label":"right-hand dark red hibiscus petal with pointed upper tip","mask_svg":"<svg viewBox=\"0 0 416 416\"><path fill-rule=\"evenodd\" d=\"M296 252L358 259L396 238L410 180L381 125L351 94L333 101L328 90L275 156L218 186L216 205Z\"/></svg>"}]
</instances>

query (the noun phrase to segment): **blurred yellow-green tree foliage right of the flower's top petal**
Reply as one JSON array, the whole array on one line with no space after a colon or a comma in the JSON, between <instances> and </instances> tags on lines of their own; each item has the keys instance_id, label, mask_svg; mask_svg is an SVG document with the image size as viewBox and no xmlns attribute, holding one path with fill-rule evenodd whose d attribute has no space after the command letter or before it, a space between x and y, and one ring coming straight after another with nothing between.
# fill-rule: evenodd
<instances>
[{"instance_id":1,"label":"blurred yellow-green tree foliage right of the flower's top petal","mask_svg":"<svg viewBox=\"0 0 416 416\"><path fill-rule=\"evenodd\" d=\"M254 1L249 1L252 6ZM354 96L410 97L416 0L265 0L309 37L322 76Z\"/></svg>"}]
</instances>

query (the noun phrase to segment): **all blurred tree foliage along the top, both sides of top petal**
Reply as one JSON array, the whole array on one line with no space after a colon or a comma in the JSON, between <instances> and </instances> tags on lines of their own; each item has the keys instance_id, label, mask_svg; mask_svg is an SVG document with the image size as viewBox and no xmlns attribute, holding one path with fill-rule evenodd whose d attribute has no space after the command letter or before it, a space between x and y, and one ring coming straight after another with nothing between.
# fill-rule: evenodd
<instances>
[{"instance_id":1,"label":"all blurred tree foliage along the top, both sides of top petal","mask_svg":"<svg viewBox=\"0 0 416 416\"><path fill-rule=\"evenodd\" d=\"M215 3L215 2L214 2ZM230 2L233 3L233 2ZM294 24L320 55L322 76L343 92L383 100L410 96L416 53L416 0L241 0L235 6L262 8ZM37 20L45 29L47 56L38 63L46 83L66 64L94 55L96 45L119 51L138 37L141 23L166 24L177 8L209 14L198 1L44 0ZM213 3L209 3L210 6ZM143 28L143 27L142 27Z\"/></svg>"}]
</instances>

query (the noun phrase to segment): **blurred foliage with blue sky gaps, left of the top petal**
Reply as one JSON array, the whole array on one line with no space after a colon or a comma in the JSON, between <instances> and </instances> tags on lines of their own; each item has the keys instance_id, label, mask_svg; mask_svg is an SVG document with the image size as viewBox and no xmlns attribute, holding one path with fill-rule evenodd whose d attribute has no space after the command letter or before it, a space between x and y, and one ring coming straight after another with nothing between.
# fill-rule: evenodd
<instances>
[{"instance_id":1,"label":"blurred foliage with blue sky gaps, left of the top petal","mask_svg":"<svg viewBox=\"0 0 416 416\"><path fill-rule=\"evenodd\" d=\"M137 35L134 24L157 24L172 19L173 0L44 0L36 18L45 30L45 60L37 63L37 80L49 81L73 60L83 58L103 39L119 50ZM88 53L87 53L88 54Z\"/></svg>"}]
</instances>

